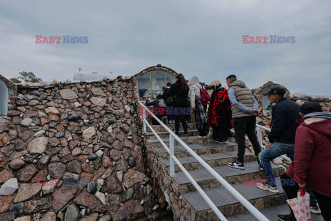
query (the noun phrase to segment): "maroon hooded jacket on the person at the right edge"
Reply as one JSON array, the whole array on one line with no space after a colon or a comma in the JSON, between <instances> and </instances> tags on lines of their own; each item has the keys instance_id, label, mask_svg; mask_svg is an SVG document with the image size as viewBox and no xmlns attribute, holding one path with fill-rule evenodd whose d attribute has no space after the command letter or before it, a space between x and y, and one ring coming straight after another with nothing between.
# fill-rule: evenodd
<instances>
[{"instance_id":1,"label":"maroon hooded jacket on the person at the right edge","mask_svg":"<svg viewBox=\"0 0 331 221\"><path fill-rule=\"evenodd\" d=\"M331 198L331 119L303 117L297 123L294 162L286 174Z\"/></svg>"}]
</instances>

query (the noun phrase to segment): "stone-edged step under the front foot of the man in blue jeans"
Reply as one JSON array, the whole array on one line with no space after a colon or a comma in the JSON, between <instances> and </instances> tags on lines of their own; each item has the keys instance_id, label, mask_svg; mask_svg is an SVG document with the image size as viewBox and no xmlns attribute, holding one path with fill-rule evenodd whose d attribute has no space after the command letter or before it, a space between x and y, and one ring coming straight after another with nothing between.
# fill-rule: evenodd
<instances>
[{"instance_id":1,"label":"stone-edged step under the front foot of the man in blue jeans","mask_svg":"<svg viewBox=\"0 0 331 221\"><path fill-rule=\"evenodd\" d=\"M263 191L258 189L257 186L243 186L243 184L233 184L236 189L243 197L252 203L257 209L263 209L270 206L277 206L286 202L285 195L281 186L277 186L279 193L271 193L270 191ZM247 213L248 210L234 198L234 196L225 187L217 187L212 189L206 189L205 194L208 195L210 200L214 202L217 208L225 216L234 215L238 213ZM197 221L210 221L219 220L214 214L214 211L210 209L210 206L203 200L199 192L188 192L182 194L185 198L185 206L189 204L191 206L191 215L195 218L192 220ZM254 219L256 220L256 219Z\"/></svg>"}]
</instances>

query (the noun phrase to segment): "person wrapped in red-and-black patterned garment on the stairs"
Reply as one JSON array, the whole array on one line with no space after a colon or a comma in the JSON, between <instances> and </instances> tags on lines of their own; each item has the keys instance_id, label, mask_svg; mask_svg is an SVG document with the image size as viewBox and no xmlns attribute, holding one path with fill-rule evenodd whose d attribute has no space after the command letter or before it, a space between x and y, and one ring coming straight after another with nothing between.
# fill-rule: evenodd
<instances>
[{"instance_id":1,"label":"person wrapped in red-and-black patterned garment on the stairs","mask_svg":"<svg viewBox=\"0 0 331 221\"><path fill-rule=\"evenodd\" d=\"M214 80L210 84L214 89L210 96L208 123L212 127L212 137L215 142L223 143L232 137L232 111L228 90L222 87L221 81Z\"/></svg>"}]
</instances>

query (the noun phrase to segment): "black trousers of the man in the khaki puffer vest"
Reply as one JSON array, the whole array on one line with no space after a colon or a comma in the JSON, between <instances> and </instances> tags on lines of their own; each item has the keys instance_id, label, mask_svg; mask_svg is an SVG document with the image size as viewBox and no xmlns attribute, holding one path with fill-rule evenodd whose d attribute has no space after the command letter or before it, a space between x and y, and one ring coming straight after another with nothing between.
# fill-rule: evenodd
<instances>
[{"instance_id":1,"label":"black trousers of the man in the khaki puffer vest","mask_svg":"<svg viewBox=\"0 0 331 221\"><path fill-rule=\"evenodd\" d=\"M254 116L235 117L233 119L234 137L238 142L238 162L243 163L243 156L245 155L245 134L247 134L248 139L253 145L255 155L259 157L261 146L255 133L255 124L257 124L257 118Z\"/></svg>"}]
</instances>

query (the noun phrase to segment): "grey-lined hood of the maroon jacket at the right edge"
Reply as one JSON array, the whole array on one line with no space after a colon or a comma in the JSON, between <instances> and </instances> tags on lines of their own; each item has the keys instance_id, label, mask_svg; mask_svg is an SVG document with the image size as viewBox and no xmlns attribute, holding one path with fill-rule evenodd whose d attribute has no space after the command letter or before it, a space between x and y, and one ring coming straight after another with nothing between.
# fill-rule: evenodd
<instances>
[{"instance_id":1,"label":"grey-lined hood of the maroon jacket at the right edge","mask_svg":"<svg viewBox=\"0 0 331 221\"><path fill-rule=\"evenodd\" d=\"M302 126L331 138L331 113L310 113L297 121Z\"/></svg>"}]
</instances>

